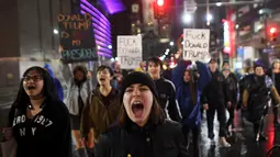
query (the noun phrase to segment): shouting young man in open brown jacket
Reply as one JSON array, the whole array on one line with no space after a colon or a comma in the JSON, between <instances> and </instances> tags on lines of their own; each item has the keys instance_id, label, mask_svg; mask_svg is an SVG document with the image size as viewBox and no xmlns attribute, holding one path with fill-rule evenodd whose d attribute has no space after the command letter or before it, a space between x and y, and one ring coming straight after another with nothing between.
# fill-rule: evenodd
<instances>
[{"instance_id":1,"label":"shouting young man in open brown jacket","mask_svg":"<svg viewBox=\"0 0 280 157\"><path fill-rule=\"evenodd\" d=\"M98 87L90 93L81 115L81 137L85 138L88 154L98 143L101 133L116 122L121 104L119 91L111 86L113 70L108 66L97 69Z\"/></svg>"}]
</instances>

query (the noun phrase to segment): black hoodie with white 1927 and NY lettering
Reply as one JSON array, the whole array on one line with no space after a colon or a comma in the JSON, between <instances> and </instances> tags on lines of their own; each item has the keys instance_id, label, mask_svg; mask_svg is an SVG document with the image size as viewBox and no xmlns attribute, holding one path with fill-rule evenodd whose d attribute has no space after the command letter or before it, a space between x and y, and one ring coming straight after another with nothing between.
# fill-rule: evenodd
<instances>
[{"instance_id":1,"label":"black hoodie with white 1927 and NY lettering","mask_svg":"<svg viewBox=\"0 0 280 157\"><path fill-rule=\"evenodd\" d=\"M43 110L33 119L26 117L26 108L13 105L11 109L9 117L18 143L16 157L71 156L71 131L66 105L58 99L46 99L41 106Z\"/></svg>"}]
</instances>

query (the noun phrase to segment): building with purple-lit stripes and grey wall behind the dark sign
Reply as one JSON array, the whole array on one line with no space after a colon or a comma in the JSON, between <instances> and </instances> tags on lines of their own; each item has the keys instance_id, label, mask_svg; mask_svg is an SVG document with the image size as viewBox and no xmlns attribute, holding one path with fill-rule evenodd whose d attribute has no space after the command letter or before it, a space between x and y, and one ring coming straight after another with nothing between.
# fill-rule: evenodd
<instances>
[{"instance_id":1,"label":"building with purple-lit stripes and grey wall behind the dark sign","mask_svg":"<svg viewBox=\"0 0 280 157\"><path fill-rule=\"evenodd\" d=\"M58 14L90 13L99 55L99 63L90 61L94 70L101 61L112 57L112 27L110 15L123 11L114 0L9 0L0 2L1 47L0 100L14 99L20 78L31 66L52 65L55 76L61 78ZM1 102L0 102L1 103Z\"/></svg>"}]
</instances>

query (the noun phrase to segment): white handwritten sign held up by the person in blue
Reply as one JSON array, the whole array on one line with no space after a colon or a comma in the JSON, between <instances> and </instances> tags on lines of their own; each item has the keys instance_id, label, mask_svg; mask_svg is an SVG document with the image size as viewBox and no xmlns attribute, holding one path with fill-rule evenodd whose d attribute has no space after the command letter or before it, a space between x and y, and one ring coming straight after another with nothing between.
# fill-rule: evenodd
<instances>
[{"instance_id":1,"label":"white handwritten sign held up by the person in blue","mask_svg":"<svg viewBox=\"0 0 280 157\"><path fill-rule=\"evenodd\" d=\"M184 29L183 30L183 59L208 61L210 30Z\"/></svg>"}]
</instances>

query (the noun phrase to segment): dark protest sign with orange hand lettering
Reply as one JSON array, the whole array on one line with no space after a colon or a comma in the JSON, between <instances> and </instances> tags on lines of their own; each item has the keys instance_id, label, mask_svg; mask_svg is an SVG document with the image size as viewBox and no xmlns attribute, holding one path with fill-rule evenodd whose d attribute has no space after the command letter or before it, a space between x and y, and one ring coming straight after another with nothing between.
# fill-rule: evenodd
<instances>
[{"instance_id":1,"label":"dark protest sign with orange hand lettering","mask_svg":"<svg viewBox=\"0 0 280 157\"><path fill-rule=\"evenodd\" d=\"M58 14L63 63L98 60L90 14Z\"/></svg>"}]
</instances>

